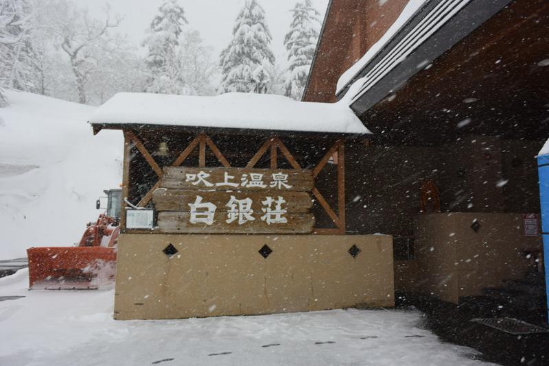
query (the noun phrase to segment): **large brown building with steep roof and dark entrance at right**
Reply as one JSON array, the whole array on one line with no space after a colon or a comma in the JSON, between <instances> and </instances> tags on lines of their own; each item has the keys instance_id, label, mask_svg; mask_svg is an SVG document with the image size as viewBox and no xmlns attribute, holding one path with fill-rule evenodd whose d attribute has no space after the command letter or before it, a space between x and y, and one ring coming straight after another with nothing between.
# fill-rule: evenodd
<instances>
[{"instance_id":1,"label":"large brown building with steep roof and dark entrance at right","mask_svg":"<svg viewBox=\"0 0 549 366\"><path fill-rule=\"evenodd\" d=\"M457 303L544 286L547 29L539 0L330 1L303 101L349 106L373 133L346 151L347 230L393 235L396 291ZM543 308L531 293L515 307Z\"/></svg>"}]
</instances>

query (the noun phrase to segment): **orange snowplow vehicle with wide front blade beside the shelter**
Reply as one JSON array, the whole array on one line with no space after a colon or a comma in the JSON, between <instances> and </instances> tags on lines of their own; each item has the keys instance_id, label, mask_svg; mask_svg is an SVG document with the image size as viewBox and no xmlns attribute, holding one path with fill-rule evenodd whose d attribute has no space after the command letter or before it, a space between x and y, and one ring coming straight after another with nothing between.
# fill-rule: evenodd
<instances>
[{"instance_id":1,"label":"orange snowplow vehicle with wide front blade beside the shelter","mask_svg":"<svg viewBox=\"0 0 549 366\"><path fill-rule=\"evenodd\" d=\"M121 190L104 192L106 211L95 223L88 223L80 243L73 247L27 249L30 289L98 289L112 284L120 233ZM100 199L96 208L101 208Z\"/></svg>"}]
</instances>

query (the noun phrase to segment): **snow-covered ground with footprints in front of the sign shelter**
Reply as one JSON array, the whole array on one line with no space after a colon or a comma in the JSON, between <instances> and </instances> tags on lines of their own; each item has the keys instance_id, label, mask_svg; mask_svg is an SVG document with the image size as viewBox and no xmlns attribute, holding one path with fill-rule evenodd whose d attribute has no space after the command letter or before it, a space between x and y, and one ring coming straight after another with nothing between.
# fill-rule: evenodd
<instances>
[{"instance_id":1,"label":"snow-covered ground with footprints in front of the sign shelter","mask_svg":"<svg viewBox=\"0 0 549 366\"><path fill-rule=\"evenodd\" d=\"M1 278L0 300L25 297L0 301L0 365L482 365L416 311L115 321L113 295L27 291L27 269Z\"/></svg>"}]
</instances>

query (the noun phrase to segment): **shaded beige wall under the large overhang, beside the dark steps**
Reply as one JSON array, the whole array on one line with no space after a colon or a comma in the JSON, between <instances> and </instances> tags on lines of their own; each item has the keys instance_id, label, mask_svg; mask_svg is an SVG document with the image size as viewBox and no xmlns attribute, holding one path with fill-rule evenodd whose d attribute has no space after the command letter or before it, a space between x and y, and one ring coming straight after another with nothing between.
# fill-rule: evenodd
<instances>
[{"instance_id":1,"label":"shaded beige wall under the large overhang, beside the dark steps","mask_svg":"<svg viewBox=\"0 0 549 366\"><path fill-rule=\"evenodd\" d=\"M475 219L478 232L471 229ZM522 214L440 213L420 215L415 223L415 259L397 264L397 290L456 304L503 280L524 278L535 266L525 251L541 250L540 236L524 235Z\"/></svg>"}]
</instances>

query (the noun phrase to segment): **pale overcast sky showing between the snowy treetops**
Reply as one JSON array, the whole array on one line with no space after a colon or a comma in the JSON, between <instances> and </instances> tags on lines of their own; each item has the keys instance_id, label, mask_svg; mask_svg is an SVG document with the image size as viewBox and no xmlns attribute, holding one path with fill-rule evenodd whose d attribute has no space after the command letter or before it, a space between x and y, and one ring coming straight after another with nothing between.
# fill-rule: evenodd
<instances>
[{"instance_id":1,"label":"pale overcast sky showing between the snowy treetops","mask_svg":"<svg viewBox=\"0 0 549 366\"><path fill-rule=\"evenodd\" d=\"M73 0L80 7L88 8L94 16L102 16L102 8L108 3L113 14L121 14L124 21L119 27L121 33L140 45L147 29L156 14L161 0ZM284 35L291 21L290 9L296 0L258 0L266 12L268 26L272 33L272 50L277 61L285 66L286 55L283 47ZM328 0L312 0L320 12L320 21L328 5ZM244 0L179 0L185 10L189 27L197 29L206 45L213 47L213 56L218 58L232 37L233 24L244 4Z\"/></svg>"}]
</instances>

